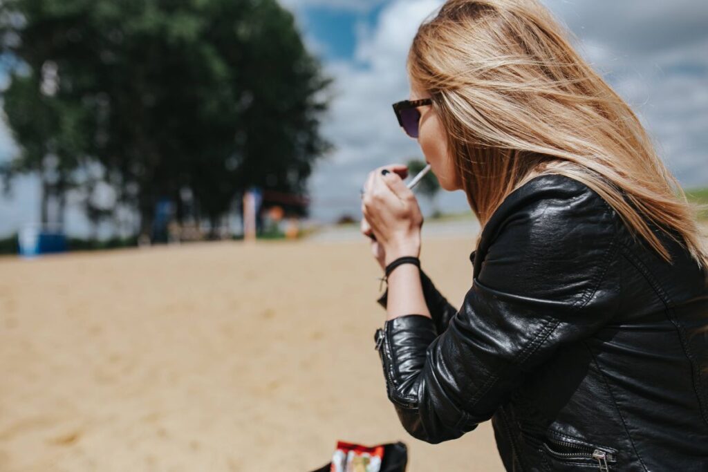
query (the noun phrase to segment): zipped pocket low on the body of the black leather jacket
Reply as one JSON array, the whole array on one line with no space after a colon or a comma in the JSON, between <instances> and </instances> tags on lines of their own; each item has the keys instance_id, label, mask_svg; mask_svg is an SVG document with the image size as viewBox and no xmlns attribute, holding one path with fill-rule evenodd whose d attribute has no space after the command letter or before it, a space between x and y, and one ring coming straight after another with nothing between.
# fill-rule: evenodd
<instances>
[{"instance_id":1,"label":"zipped pocket low on the body of the black leather jacket","mask_svg":"<svg viewBox=\"0 0 708 472\"><path fill-rule=\"evenodd\" d=\"M610 447L557 437L546 437L540 446L552 471L607 472L617 467L617 450Z\"/></svg>"}]
</instances>

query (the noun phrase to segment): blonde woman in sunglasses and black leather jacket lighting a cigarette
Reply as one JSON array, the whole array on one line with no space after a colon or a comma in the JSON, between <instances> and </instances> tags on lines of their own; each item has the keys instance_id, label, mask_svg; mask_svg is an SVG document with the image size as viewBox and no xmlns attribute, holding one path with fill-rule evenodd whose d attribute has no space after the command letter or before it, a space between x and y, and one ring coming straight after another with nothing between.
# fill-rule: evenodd
<instances>
[{"instance_id":1,"label":"blonde woman in sunglasses and black leather jacket lighting a cigarette","mask_svg":"<svg viewBox=\"0 0 708 472\"><path fill-rule=\"evenodd\" d=\"M708 471L708 250L634 113L535 0L450 0L394 105L481 224L457 310L419 270L404 166L370 174L389 399L438 443L491 419L513 471Z\"/></svg>"}]
</instances>

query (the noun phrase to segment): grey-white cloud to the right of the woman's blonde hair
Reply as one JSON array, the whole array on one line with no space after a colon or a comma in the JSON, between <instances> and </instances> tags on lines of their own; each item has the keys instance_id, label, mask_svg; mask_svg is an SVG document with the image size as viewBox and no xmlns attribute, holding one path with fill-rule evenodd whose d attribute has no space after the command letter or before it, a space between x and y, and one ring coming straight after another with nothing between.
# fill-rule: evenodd
<instances>
[{"instance_id":1,"label":"grey-white cloud to the right of the woman's blonde hair","mask_svg":"<svg viewBox=\"0 0 708 472\"><path fill-rule=\"evenodd\" d=\"M708 184L708 4L549 0L686 187Z\"/></svg>"}]
</instances>

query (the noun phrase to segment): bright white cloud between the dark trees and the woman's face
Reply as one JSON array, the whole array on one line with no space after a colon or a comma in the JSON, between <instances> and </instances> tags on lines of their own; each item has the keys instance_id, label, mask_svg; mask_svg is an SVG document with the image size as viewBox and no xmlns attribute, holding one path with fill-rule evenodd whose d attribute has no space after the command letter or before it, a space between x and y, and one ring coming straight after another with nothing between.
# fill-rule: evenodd
<instances>
[{"instance_id":1,"label":"bright white cloud between the dark trees and the woman's face","mask_svg":"<svg viewBox=\"0 0 708 472\"><path fill-rule=\"evenodd\" d=\"M408 98L406 56L418 25L441 0L397 0L387 5L371 28L360 27L351 61L330 62L336 78L323 133L336 145L314 173L312 212L321 219L360 212L359 189L372 169L422 158L418 143L400 129L391 104ZM441 195L440 204L464 209L461 192Z\"/></svg>"}]
</instances>

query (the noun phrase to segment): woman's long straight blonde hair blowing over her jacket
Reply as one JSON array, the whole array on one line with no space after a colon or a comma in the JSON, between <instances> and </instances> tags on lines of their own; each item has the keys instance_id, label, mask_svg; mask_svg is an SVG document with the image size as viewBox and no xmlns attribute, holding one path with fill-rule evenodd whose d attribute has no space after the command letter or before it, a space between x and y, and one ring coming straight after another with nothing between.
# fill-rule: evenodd
<instances>
[{"instance_id":1,"label":"woman's long straight blonde hair blowing over her jacket","mask_svg":"<svg viewBox=\"0 0 708 472\"><path fill-rule=\"evenodd\" d=\"M697 207L566 35L536 0L449 0L418 29L411 85L433 98L480 224L530 178L561 174L595 190L668 262L648 221L708 268Z\"/></svg>"}]
</instances>

